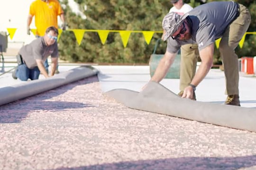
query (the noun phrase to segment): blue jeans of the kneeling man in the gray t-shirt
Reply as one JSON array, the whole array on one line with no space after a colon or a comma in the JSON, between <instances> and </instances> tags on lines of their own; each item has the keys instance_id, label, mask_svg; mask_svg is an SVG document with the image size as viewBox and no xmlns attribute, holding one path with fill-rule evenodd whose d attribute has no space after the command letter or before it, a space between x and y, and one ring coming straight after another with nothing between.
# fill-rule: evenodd
<instances>
[{"instance_id":1,"label":"blue jeans of the kneeling man in the gray t-shirt","mask_svg":"<svg viewBox=\"0 0 256 170\"><path fill-rule=\"evenodd\" d=\"M16 77L18 77L21 81L27 81L27 79L30 80L37 80L39 77L40 71L38 67L35 67L34 69L27 68L26 64L18 65L17 71L16 71Z\"/></svg>"}]
</instances>

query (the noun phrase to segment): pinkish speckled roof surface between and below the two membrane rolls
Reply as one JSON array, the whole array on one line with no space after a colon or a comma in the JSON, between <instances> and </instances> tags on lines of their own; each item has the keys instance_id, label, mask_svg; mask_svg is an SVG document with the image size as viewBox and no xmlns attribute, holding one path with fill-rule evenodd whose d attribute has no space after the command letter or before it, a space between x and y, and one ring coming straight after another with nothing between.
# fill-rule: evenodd
<instances>
[{"instance_id":1,"label":"pinkish speckled roof surface between and below the two membrane rolls","mask_svg":"<svg viewBox=\"0 0 256 170\"><path fill-rule=\"evenodd\" d=\"M244 169L256 133L129 109L97 76L0 106L0 170Z\"/></svg>"}]
</instances>

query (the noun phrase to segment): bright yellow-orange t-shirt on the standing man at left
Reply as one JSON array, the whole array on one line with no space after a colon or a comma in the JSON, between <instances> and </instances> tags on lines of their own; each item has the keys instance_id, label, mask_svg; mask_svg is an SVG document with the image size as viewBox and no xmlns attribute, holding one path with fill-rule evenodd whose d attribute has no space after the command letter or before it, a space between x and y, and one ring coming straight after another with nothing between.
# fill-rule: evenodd
<instances>
[{"instance_id":1,"label":"bright yellow-orange t-shirt on the standing man at left","mask_svg":"<svg viewBox=\"0 0 256 170\"><path fill-rule=\"evenodd\" d=\"M54 26L58 28L57 17L62 13L63 10L58 0L48 0L48 2L35 0L32 2L29 14L35 16L37 36L44 36L48 27Z\"/></svg>"}]
</instances>

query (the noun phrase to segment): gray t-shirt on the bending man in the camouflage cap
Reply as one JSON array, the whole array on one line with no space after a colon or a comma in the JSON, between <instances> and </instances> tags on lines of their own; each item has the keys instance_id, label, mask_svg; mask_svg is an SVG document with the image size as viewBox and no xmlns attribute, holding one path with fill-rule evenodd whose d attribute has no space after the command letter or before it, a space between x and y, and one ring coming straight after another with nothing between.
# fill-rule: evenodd
<instances>
[{"instance_id":1,"label":"gray t-shirt on the bending man in the camouflage cap","mask_svg":"<svg viewBox=\"0 0 256 170\"><path fill-rule=\"evenodd\" d=\"M167 51L176 53L181 45L198 44L199 51L220 38L229 24L237 17L238 6L233 1L210 2L189 12L186 18L192 27L189 40L167 39Z\"/></svg>"}]
</instances>

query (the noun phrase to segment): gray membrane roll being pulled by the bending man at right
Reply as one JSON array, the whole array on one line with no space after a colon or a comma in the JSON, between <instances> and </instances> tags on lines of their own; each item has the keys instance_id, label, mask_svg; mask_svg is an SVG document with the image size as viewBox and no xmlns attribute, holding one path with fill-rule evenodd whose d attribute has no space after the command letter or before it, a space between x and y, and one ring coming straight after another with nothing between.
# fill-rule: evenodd
<instances>
[{"instance_id":1,"label":"gray membrane roll being pulled by the bending man at right","mask_svg":"<svg viewBox=\"0 0 256 170\"><path fill-rule=\"evenodd\" d=\"M199 122L256 132L256 108L220 105L180 98L159 83L150 81L141 91L113 89L105 95L125 106Z\"/></svg>"}]
</instances>

